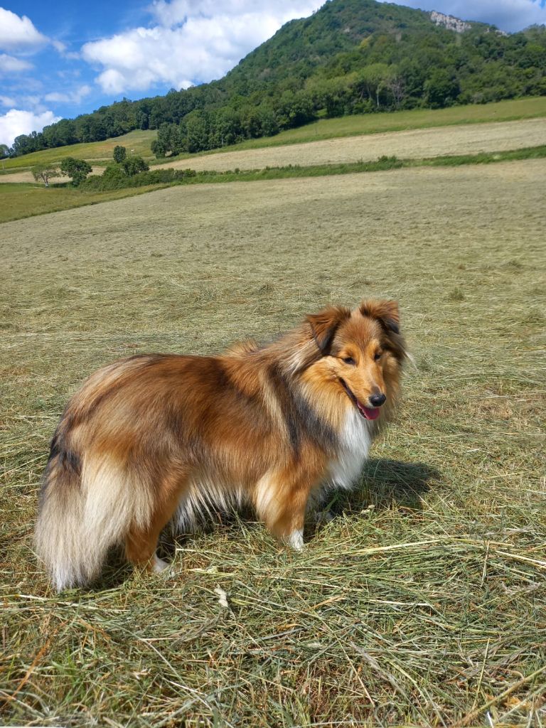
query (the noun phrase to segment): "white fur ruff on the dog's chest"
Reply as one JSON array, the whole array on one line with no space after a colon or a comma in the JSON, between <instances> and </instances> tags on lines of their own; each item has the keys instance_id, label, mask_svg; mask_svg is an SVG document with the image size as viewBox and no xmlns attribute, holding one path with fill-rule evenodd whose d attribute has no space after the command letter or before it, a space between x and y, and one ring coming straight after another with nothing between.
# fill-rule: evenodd
<instances>
[{"instance_id":1,"label":"white fur ruff on the dog's chest","mask_svg":"<svg viewBox=\"0 0 546 728\"><path fill-rule=\"evenodd\" d=\"M351 488L362 472L371 446L367 420L352 407L341 430L339 455L330 463L330 479L336 488Z\"/></svg>"}]
</instances>

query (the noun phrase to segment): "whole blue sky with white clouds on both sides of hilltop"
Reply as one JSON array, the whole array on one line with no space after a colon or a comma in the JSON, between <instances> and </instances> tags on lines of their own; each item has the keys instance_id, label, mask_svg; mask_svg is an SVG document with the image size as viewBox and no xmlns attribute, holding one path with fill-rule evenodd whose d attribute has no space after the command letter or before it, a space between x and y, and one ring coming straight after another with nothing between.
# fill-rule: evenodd
<instances>
[{"instance_id":1,"label":"whole blue sky with white clouds on both sides of hilltop","mask_svg":"<svg viewBox=\"0 0 546 728\"><path fill-rule=\"evenodd\" d=\"M0 0L0 143L120 100L221 78L323 0ZM546 0L399 0L514 32ZM54 8L54 9L52 9Z\"/></svg>"}]
</instances>

